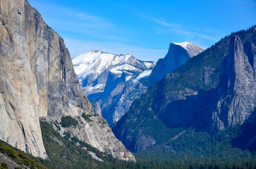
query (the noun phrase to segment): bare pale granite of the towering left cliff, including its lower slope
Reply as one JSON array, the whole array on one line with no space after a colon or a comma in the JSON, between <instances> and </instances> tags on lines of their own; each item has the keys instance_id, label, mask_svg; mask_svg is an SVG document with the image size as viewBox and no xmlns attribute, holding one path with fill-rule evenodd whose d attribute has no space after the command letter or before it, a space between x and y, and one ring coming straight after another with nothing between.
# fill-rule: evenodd
<instances>
[{"instance_id":1,"label":"bare pale granite of the towering left cliff, including its lower slope","mask_svg":"<svg viewBox=\"0 0 256 169\"><path fill-rule=\"evenodd\" d=\"M92 105L79 86L63 39L27 0L1 1L0 19L0 139L47 158L39 117L51 121L63 115L93 115ZM93 120L70 132L79 130L74 136L100 151L135 160L120 142L108 147L118 140L108 125L97 123L104 121L102 117Z\"/></svg>"}]
</instances>

